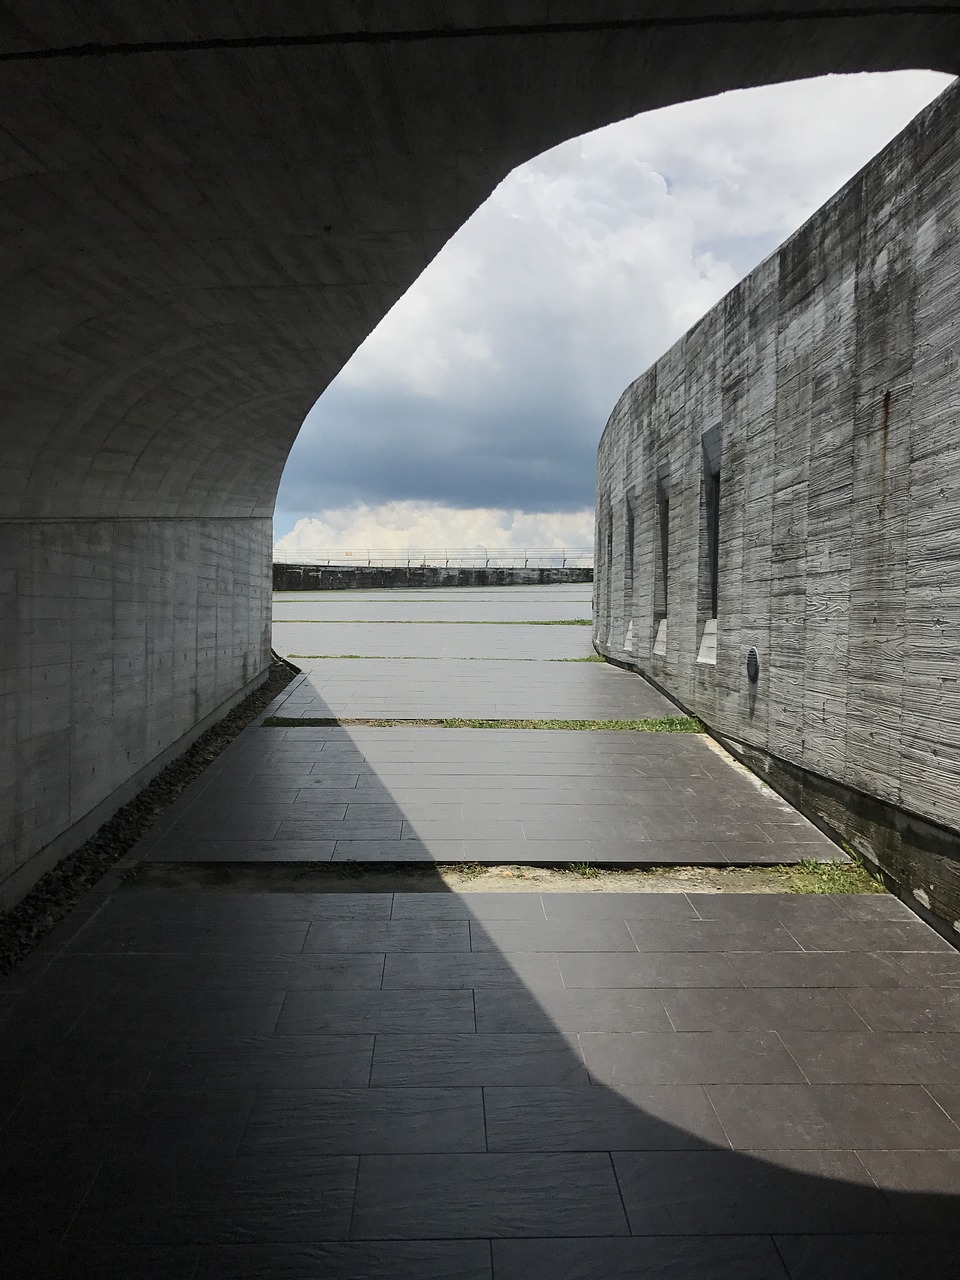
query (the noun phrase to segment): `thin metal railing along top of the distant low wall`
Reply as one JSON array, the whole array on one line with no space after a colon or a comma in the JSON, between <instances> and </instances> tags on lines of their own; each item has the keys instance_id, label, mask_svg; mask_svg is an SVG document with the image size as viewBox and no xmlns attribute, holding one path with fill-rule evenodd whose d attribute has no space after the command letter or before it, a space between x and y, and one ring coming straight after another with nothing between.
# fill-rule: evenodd
<instances>
[{"instance_id":1,"label":"thin metal railing along top of the distant low wall","mask_svg":"<svg viewBox=\"0 0 960 1280\"><path fill-rule=\"evenodd\" d=\"M420 548L406 550L376 547L298 547L274 549L275 564L324 564L343 567L349 564L392 568L416 564L434 564L443 568L593 568L593 547L525 547L503 550L477 547Z\"/></svg>"}]
</instances>

